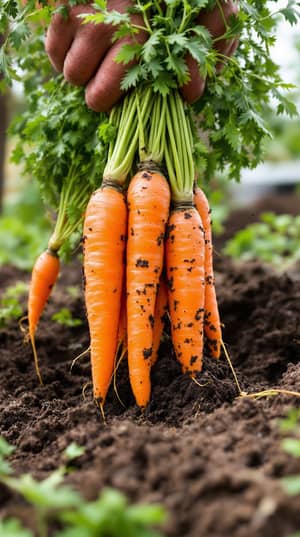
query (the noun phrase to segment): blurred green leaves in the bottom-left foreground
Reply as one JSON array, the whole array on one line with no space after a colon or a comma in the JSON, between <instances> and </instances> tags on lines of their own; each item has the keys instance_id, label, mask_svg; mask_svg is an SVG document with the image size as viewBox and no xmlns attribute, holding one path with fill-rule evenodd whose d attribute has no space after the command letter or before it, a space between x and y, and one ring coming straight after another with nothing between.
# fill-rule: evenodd
<instances>
[{"instance_id":1,"label":"blurred green leaves in the bottom-left foreground","mask_svg":"<svg viewBox=\"0 0 300 537\"><path fill-rule=\"evenodd\" d=\"M53 522L61 527L54 537L162 537L152 529L166 518L160 505L128 505L125 496L113 489L104 489L95 501L86 502L79 492L63 484L69 465L60 466L42 481L31 474L14 477L6 460L13 450L0 437L0 482L32 506L38 537L47 537ZM69 463L83 453L84 448L73 443L64 458ZM0 523L0 535L32 537L33 533L18 520L9 519Z\"/></svg>"}]
</instances>

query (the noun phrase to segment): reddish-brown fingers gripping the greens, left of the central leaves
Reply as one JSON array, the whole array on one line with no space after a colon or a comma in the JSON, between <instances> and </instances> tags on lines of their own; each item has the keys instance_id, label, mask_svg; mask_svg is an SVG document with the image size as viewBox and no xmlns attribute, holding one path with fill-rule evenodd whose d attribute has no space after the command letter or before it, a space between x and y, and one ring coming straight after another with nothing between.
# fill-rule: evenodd
<instances>
[{"instance_id":1,"label":"reddish-brown fingers gripping the greens, left of the central leaves","mask_svg":"<svg viewBox=\"0 0 300 537\"><path fill-rule=\"evenodd\" d=\"M128 0L110 0L109 9L123 12ZM130 40L119 40L112 45L115 27L107 24L82 24L78 17L81 13L93 12L90 6L77 6L69 10L69 18L55 15L51 21L47 37L46 51L53 67L63 72L71 84L86 86L86 102L97 112L109 110L120 98L122 78L130 66L117 64L114 59L123 46ZM132 20L143 24L140 16ZM146 41L146 32L136 36L139 42ZM132 65L132 64L131 64Z\"/></svg>"}]
</instances>

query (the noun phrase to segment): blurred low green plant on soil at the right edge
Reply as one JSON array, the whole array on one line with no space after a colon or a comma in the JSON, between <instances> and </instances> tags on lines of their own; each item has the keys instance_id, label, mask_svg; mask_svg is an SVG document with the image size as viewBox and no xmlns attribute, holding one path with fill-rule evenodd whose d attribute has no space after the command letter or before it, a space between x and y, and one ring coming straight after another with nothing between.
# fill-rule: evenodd
<instances>
[{"instance_id":1,"label":"blurred low green plant on soil at the right edge","mask_svg":"<svg viewBox=\"0 0 300 537\"><path fill-rule=\"evenodd\" d=\"M279 271L300 259L300 216L263 213L261 221L238 231L224 248L234 259L260 259Z\"/></svg>"}]
</instances>

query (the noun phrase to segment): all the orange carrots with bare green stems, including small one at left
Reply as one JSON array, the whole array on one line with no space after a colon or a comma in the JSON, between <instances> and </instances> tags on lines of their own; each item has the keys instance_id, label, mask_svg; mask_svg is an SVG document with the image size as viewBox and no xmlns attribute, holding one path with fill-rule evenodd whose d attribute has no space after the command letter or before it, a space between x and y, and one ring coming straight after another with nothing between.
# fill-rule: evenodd
<instances>
[{"instance_id":1,"label":"all the orange carrots with bare green stems, including small one at left","mask_svg":"<svg viewBox=\"0 0 300 537\"><path fill-rule=\"evenodd\" d=\"M166 316L182 371L192 378L201 371L204 343L219 358L222 341L210 210L195 182L188 107L177 90L162 96L145 86L113 108L110 123L116 135L83 224L93 393L102 411L121 347L136 403L147 406ZM29 292L34 349L58 270L50 246L34 266ZM35 359L40 376L36 352Z\"/></svg>"}]
</instances>

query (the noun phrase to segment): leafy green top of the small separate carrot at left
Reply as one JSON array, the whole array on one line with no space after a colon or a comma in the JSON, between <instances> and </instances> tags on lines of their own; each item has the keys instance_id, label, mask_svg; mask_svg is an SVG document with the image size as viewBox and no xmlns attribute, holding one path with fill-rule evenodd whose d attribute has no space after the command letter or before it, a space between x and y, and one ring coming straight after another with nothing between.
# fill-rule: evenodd
<instances>
[{"instance_id":1,"label":"leafy green top of the small separate carrot at left","mask_svg":"<svg viewBox=\"0 0 300 537\"><path fill-rule=\"evenodd\" d=\"M89 110L83 91L55 77L30 92L28 109L11 125L17 135L13 160L40 186L45 203L56 213L49 248L73 246L92 191L99 186L107 143L98 136L104 114Z\"/></svg>"}]
</instances>

